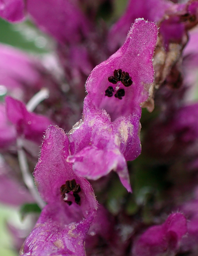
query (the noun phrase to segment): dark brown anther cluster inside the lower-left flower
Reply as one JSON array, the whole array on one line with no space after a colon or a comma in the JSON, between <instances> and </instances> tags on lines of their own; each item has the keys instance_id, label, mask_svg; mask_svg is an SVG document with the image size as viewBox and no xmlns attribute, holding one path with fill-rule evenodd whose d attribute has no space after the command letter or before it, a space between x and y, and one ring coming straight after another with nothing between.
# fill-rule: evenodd
<instances>
[{"instance_id":1,"label":"dark brown anther cluster inside the lower-left flower","mask_svg":"<svg viewBox=\"0 0 198 256\"><path fill-rule=\"evenodd\" d=\"M63 195L63 197L65 198L65 193L69 193L69 192L73 192L73 196L75 198L75 203L80 205L81 204L81 198L80 196L78 195L78 193L81 191L81 187L79 184L76 184L76 181L75 179L72 179L72 180L67 180L65 182L65 184L63 184L61 187L60 187L60 194ZM72 204L72 201L67 201L65 200L65 202L68 204L68 205L71 205Z\"/></svg>"}]
</instances>

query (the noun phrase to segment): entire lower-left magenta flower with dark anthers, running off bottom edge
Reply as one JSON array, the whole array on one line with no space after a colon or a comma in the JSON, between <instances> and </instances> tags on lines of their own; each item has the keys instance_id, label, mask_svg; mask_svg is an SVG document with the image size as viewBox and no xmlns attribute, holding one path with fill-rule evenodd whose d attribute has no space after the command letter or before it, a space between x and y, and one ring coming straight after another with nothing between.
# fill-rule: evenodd
<instances>
[{"instance_id":1,"label":"entire lower-left magenta flower with dark anthers, running off bottom edge","mask_svg":"<svg viewBox=\"0 0 198 256\"><path fill-rule=\"evenodd\" d=\"M48 205L20 255L86 255L84 241L98 205L91 185L66 162L68 148L64 131L50 126L34 171L38 191Z\"/></svg>"}]
</instances>

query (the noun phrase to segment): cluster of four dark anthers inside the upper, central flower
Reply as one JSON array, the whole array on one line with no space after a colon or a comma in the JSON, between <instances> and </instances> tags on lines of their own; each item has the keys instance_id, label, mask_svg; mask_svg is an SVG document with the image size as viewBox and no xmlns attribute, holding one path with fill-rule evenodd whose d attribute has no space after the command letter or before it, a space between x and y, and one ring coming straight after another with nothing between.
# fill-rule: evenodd
<instances>
[{"instance_id":1,"label":"cluster of four dark anthers inside the upper, central flower","mask_svg":"<svg viewBox=\"0 0 198 256\"><path fill-rule=\"evenodd\" d=\"M122 69L115 69L113 71L113 76L108 77L108 81L110 83L116 84L118 81L120 81L124 86L129 87L133 83L131 80L131 77L129 76L128 72L122 71ZM112 97L113 96L114 89L112 86L109 86L107 90L105 91L105 96ZM119 89L115 93L115 97L122 100L122 97L125 95L124 89Z\"/></svg>"}]
</instances>

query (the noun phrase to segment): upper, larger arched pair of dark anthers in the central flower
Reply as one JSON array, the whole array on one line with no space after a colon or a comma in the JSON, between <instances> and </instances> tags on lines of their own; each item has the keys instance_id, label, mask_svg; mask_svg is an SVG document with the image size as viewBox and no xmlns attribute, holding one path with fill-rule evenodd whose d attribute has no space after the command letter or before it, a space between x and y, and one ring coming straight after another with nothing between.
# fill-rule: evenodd
<instances>
[{"instance_id":1,"label":"upper, larger arched pair of dark anthers in the central flower","mask_svg":"<svg viewBox=\"0 0 198 256\"><path fill-rule=\"evenodd\" d=\"M113 84L116 84L118 81L121 81L121 83L124 84L124 86L126 87L130 86L133 83L131 77L129 76L129 73L122 71L122 69L115 69L113 71L113 76L108 77L108 81Z\"/></svg>"}]
</instances>

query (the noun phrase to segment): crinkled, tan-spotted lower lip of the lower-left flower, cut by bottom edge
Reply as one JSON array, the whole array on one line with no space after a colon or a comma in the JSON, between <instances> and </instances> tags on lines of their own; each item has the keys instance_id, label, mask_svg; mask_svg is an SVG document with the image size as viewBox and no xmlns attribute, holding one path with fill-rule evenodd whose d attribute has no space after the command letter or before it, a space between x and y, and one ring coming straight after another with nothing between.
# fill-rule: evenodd
<instances>
[{"instance_id":1,"label":"crinkled, tan-spotted lower lip of the lower-left flower, cut by bottom edge","mask_svg":"<svg viewBox=\"0 0 198 256\"><path fill-rule=\"evenodd\" d=\"M20 255L85 256L85 237L93 216L68 222L66 212L57 205L46 205Z\"/></svg>"}]
</instances>

